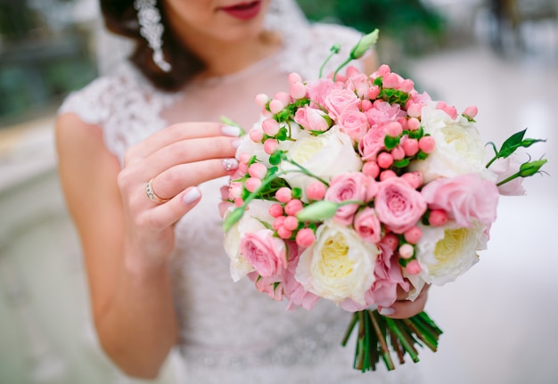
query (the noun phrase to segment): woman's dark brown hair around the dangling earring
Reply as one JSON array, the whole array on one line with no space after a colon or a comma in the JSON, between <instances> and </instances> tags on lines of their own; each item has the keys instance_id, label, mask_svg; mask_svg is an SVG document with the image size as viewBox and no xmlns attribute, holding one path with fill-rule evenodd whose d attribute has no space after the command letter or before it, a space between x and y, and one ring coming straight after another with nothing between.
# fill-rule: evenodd
<instances>
[{"instance_id":1,"label":"woman's dark brown hair around the dangling earring","mask_svg":"<svg viewBox=\"0 0 558 384\"><path fill-rule=\"evenodd\" d=\"M134 0L99 0L103 12L104 24L111 32L131 38L135 41L135 50L129 60L152 81L154 86L166 91L173 91L184 86L205 68L199 57L193 54L175 36L167 22L164 6L158 1L157 7L161 13L161 22L165 31L163 33L163 55L170 63L172 69L165 72L152 60L152 49L147 41L140 35L140 26L137 21L137 12Z\"/></svg>"}]
</instances>

